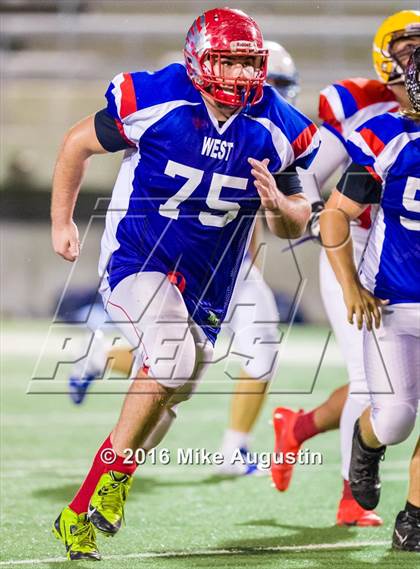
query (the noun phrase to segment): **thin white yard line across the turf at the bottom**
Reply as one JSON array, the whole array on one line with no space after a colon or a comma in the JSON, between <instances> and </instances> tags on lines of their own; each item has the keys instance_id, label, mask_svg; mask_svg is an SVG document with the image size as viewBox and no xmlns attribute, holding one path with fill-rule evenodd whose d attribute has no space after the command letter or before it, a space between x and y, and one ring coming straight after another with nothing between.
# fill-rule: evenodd
<instances>
[{"instance_id":1,"label":"thin white yard line across the turf at the bottom","mask_svg":"<svg viewBox=\"0 0 420 569\"><path fill-rule=\"evenodd\" d=\"M195 551L165 551L162 553L128 553L127 555L105 555L104 561L125 559L165 559L165 558L182 558L182 557L212 557L216 555L241 555L241 554L259 554L259 553L282 553L282 552L300 552L300 551L322 551L334 549L357 549L359 547L384 547L389 545L389 541L356 541L356 542L337 542L337 543L319 543L308 545L279 545L272 547L251 547L243 549L203 549ZM66 561L65 557L47 557L44 559L16 559L10 561L0 561L0 566L10 565L40 565L41 563L62 563Z\"/></svg>"}]
</instances>

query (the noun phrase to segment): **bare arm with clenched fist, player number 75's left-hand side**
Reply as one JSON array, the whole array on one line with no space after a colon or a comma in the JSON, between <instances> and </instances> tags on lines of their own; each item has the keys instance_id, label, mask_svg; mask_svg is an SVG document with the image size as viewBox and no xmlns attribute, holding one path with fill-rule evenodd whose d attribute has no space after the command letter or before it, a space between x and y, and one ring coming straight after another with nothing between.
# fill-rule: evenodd
<instances>
[{"instance_id":1,"label":"bare arm with clenched fist, player number 75's left-hand side","mask_svg":"<svg viewBox=\"0 0 420 569\"><path fill-rule=\"evenodd\" d=\"M73 262L79 255L73 211L89 158L106 152L97 139L93 115L75 124L61 144L53 177L52 243L54 251L67 261Z\"/></svg>"}]
</instances>

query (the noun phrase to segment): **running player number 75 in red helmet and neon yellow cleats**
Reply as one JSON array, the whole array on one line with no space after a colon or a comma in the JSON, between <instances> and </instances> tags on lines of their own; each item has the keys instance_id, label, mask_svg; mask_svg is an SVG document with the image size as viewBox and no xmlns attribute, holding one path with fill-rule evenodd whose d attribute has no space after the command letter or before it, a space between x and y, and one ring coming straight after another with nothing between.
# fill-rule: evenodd
<instances>
[{"instance_id":1,"label":"running player number 75 in red helmet and neon yellow cleats","mask_svg":"<svg viewBox=\"0 0 420 569\"><path fill-rule=\"evenodd\" d=\"M117 75L107 107L69 131L57 160L53 246L74 261L73 209L88 158L137 149L126 157L128 182L124 174L114 187L99 266L109 318L136 353L135 381L54 524L69 559L100 557L96 530L120 529L136 451L162 440L211 362L257 210L285 238L301 235L310 216L295 168L312 161L317 130L264 84L256 22L209 10L184 53L185 66Z\"/></svg>"}]
</instances>

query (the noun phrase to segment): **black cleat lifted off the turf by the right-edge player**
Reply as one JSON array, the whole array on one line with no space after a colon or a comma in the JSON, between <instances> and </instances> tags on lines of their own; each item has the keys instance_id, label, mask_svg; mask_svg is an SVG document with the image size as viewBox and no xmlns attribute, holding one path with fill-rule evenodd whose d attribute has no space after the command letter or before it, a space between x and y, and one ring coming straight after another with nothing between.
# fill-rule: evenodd
<instances>
[{"instance_id":1,"label":"black cleat lifted off the turf by the right-edge player","mask_svg":"<svg viewBox=\"0 0 420 569\"><path fill-rule=\"evenodd\" d=\"M357 420L353 432L349 483L355 500L365 510L373 510L379 502L381 495L379 462L385 455L385 449L385 446L367 449L363 445Z\"/></svg>"}]
</instances>

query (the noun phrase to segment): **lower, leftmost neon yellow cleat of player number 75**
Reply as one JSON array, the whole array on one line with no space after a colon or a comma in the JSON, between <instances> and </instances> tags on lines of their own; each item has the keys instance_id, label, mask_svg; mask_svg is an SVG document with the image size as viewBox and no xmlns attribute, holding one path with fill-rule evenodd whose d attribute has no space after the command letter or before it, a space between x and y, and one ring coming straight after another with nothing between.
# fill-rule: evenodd
<instances>
[{"instance_id":1,"label":"lower, leftmost neon yellow cleat of player number 75","mask_svg":"<svg viewBox=\"0 0 420 569\"><path fill-rule=\"evenodd\" d=\"M69 507L64 508L55 520L52 532L66 546L67 558L71 561L101 559L95 541L95 528L88 520L87 514L76 514Z\"/></svg>"}]
</instances>

